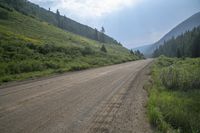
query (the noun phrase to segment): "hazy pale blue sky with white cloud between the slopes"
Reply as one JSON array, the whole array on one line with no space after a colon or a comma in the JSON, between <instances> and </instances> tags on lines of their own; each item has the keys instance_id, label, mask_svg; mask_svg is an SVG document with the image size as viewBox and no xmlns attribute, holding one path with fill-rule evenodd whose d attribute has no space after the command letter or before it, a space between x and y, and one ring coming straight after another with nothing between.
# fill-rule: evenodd
<instances>
[{"instance_id":1,"label":"hazy pale blue sky with white cloud between the slopes","mask_svg":"<svg viewBox=\"0 0 200 133\"><path fill-rule=\"evenodd\" d=\"M30 0L100 29L127 48L152 44L200 11L200 0Z\"/></svg>"}]
</instances>

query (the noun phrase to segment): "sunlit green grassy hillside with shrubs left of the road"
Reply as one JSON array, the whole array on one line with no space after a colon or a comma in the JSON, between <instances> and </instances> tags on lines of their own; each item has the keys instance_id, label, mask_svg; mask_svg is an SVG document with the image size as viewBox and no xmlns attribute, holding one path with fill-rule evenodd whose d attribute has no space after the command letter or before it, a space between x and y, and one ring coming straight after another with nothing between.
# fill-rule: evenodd
<instances>
[{"instance_id":1,"label":"sunlit green grassy hillside with shrubs left of the road","mask_svg":"<svg viewBox=\"0 0 200 133\"><path fill-rule=\"evenodd\" d=\"M102 44L5 8L0 8L0 55L0 83L138 59L120 45Z\"/></svg>"}]
</instances>

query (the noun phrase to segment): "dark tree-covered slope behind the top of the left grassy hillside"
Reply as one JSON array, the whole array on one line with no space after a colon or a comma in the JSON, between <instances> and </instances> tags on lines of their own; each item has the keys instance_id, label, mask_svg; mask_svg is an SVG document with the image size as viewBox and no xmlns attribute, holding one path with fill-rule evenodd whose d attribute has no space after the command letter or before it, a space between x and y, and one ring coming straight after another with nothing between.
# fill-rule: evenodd
<instances>
[{"instance_id":1,"label":"dark tree-covered slope behind the top of the left grassy hillside","mask_svg":"<svg viewBox=\"0 0 200 133\"><path fill-rule=\"evenodd\" d=\"M53 13L50 9L46 10L27 0L1 0L0 6L15 9L24 15L31 16L40 21L45 21L63 30L67 30L96 41L121 45L113 38L104 34L104 32L99 32L97 29L93 29L89 26L73 21L66 16L60 15L59 10L57 10L56 13Z\"/></svg>"}]
</instances>

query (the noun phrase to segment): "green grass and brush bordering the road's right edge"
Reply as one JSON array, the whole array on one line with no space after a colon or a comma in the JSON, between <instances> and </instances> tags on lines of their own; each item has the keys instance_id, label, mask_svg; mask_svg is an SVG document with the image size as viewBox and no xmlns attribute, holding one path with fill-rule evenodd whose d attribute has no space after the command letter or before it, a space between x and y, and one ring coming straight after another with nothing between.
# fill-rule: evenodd
<instances>
[{"instance_id":1,"label":"green grass and brush bordering the road's right edge","mask_svg":"<svg viewBox=\"0 0 200 133\"><path fill-rule=\"evenodd\" d=\"M162 133L200 133L200 58L159 57L152 67L148 116Z\"/></svg>"}]
</instances>

